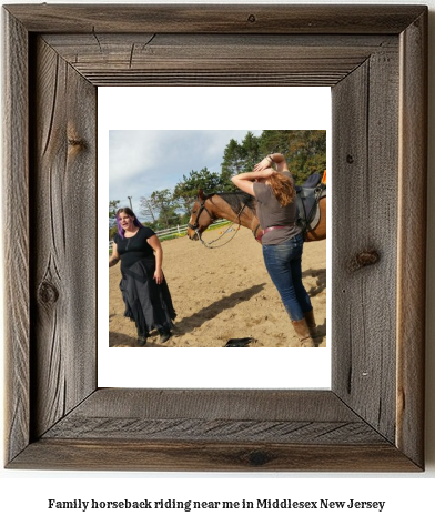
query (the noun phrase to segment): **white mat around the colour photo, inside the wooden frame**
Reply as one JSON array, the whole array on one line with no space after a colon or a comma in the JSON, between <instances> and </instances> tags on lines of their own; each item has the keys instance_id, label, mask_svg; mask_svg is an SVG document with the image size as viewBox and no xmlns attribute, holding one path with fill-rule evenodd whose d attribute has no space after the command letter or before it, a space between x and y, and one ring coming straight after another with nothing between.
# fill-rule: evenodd
<instances>
[{"instance_id":1,"label":"white mat around the colour photo, inside the wooden frame","mask_svg":"<svg viewBox=\"0 0 435 526\"><path fill-rule=\"evenodd\" d=\"M273 101L281 111L261 110ZM100 88L99 89L99 356L100 387L330 388L328 348L109 347L107 205L109 130L326 130L328 88ZM164 108L168 119L162 119ZM256 111L252 111L257 108ZM327 159L331 159L327 152ZM125 160L128 162L128 160ZM331 170L328 170L331 173ZM328 191L332 190L331 178ZM151 193L143 182L143 194ZM125 188L125 195L131 194ZM121 198L121 196L120 196ZM122 196L123 198L123 196ZM331 211L331 208L328 208ZM327 221L331 225L331 221ZM331 245L328 244L328 249ZM164 250L164 245L163 245ZM205 250L205 249L204 249ZM219 256L216 252L216 257ZM331 251L328 250L328 260ZM326 269L330 269L330 263ZM179 272L188 272L179 269ZM186 276L188 279L188 276ZM331 273L327 273L327 281ZM192 283L192 286L194 284ZM326 290L328 290L327 283ZM171 284L170 284L171 287ZM327 300L330 300L327 295ZM192 297L194 301L194 296ZM175 305L176 310L176 305ZM182 313L180 313L182 314ZM330 321L330 316L326 316ZM176 321L175 321L176 322ZM291 326L289 325L291 330ZM330 334L328 327L326 334ZM264 360L266 358L266 360ZM168 366L170 364L170 366ZM229 366L231 364L231 366Z\"/></svg>"}]
</instances>

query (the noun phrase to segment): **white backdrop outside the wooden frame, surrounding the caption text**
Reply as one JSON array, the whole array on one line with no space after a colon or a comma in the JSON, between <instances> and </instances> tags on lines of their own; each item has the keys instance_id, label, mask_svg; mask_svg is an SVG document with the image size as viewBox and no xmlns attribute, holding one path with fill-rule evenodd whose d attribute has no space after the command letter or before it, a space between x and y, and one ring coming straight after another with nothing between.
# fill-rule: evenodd
<instances>
[{"instance_id":1,"label":"white backdrop outside the wooden frame, surrounding the caption text","mask_svg":"<svg viewBox=\"0 0 435 526\"><path fill-rule=\"evenodd\" d=\"M29 3L16 0L13 3ZM51 2L70 3L70 2ZM77 2L79 3L79 2ZM81 2L87 3L87 2ZM101 3L94 1L93 3ZM115 2L121 3L120 0ZM155 3L149 1L148 3ZM172 1L172 3L175 3ZM226 2L221 2L226 3ZM230 2L229 2L230 3ZM242 3L242 2L240 2ZM250 3L266 3L255 2ZM275 3L302 3L295 2ZM356 3L356 2L325 2L316 0L315 3ZM371 0L360 3L401 3ZM407 0L406 3L419 4L422 2ZM435 110L434 93L434 10L435 0L425 2L431 8L429 27L429 174L435 170L434 123ZM433 178L428 180L428 261L427 267L435 267L435 234L434 234L434 205L435 189ZM7 227L7 224L3 225ZM43 525L75 525L100 524L119 525L125 522L129 525L144 524L201 524L214 525L226 522L230 524L264 524L265 520L275 525L289 525L303 520L321 520L322 524L334 525L404 525L409 523L433 523L433 495L435 490L435 289L434 273L428 274L427 281L427 382L426 382L426 472L424 474L213 474L213 473L111 473L111 472L16 472L1 471L0 499L1 519L6 524L12 520L17 524ZM104 512L91 510L49 510L48 498L58 500L72 500L82 498L90 500L109 499L198 499L198 500L255 500L256 498L292 498L295 500L316 500L328 498L345 500L356 498L360 500L385 500L382 513L376 510L196 510L185 513L181 510L163 512Z\"/></svg>"}]
</instances>

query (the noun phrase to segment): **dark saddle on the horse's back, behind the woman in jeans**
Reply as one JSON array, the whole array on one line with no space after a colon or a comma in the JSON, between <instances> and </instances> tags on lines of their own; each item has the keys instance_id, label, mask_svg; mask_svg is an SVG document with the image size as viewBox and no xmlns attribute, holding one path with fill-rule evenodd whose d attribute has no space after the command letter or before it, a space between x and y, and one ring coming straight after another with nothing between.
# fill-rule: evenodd
<instances>
[{"instance_id":1,"label":"dark saddle on the horse's back, behind the woman in jeans","mask_svg":"<svg viewBox=\"0 0 435 526\"><path fill-rule=\"evenodd\" d=\"M326 184L318 173L313 173L302 186L296 186L296 224L305 237L321 221L318 202L326 198Z\"/></svg>"}]
</instances>

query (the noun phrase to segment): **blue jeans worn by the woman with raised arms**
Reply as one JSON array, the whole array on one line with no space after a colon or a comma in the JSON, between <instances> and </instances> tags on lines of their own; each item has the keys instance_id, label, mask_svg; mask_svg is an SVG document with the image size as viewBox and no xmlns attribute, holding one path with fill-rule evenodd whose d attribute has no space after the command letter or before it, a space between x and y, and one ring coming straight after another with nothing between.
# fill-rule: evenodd
<instances>
[{"instance_id":1,"label":"blue jeans worn by the woman with raised arms","mask_svg":"<svg viewBox=\"0 0 435 526\"><path fill-rule=\"evenodd\" d=\"M302 283L303 245L302 234L277 245L263 245L263 257L269 275L292 321L302 320L304 312L313 308Z\"/></svg>"}]
</instances>

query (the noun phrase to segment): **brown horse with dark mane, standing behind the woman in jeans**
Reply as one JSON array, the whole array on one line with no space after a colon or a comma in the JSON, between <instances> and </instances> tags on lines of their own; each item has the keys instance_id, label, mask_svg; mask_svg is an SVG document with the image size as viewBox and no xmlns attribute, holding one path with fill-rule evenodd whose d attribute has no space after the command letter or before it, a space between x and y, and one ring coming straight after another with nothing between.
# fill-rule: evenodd
<instances>
[{"instance_id":1,"label":"brown horse with dark mane, standing behind the woman in jeans","mask_svg":"<svg viewBox=\"0 0 435 526\"><path fill-rule=\"evenodd\" d=\"M305 213L310 223L310 226L306 227L305 241L326 239L326 191L316 196L316 213L313 213L314 209L307 210ZM188 236L191 240L202 241L201 234L204 230L214 221L226 219L250 229L256 241L261 243L263 231L256 215L255 204L255 198L245 192L221 192L205 195L200 189L189 220Z\"/></svg>"}]
</instances>

